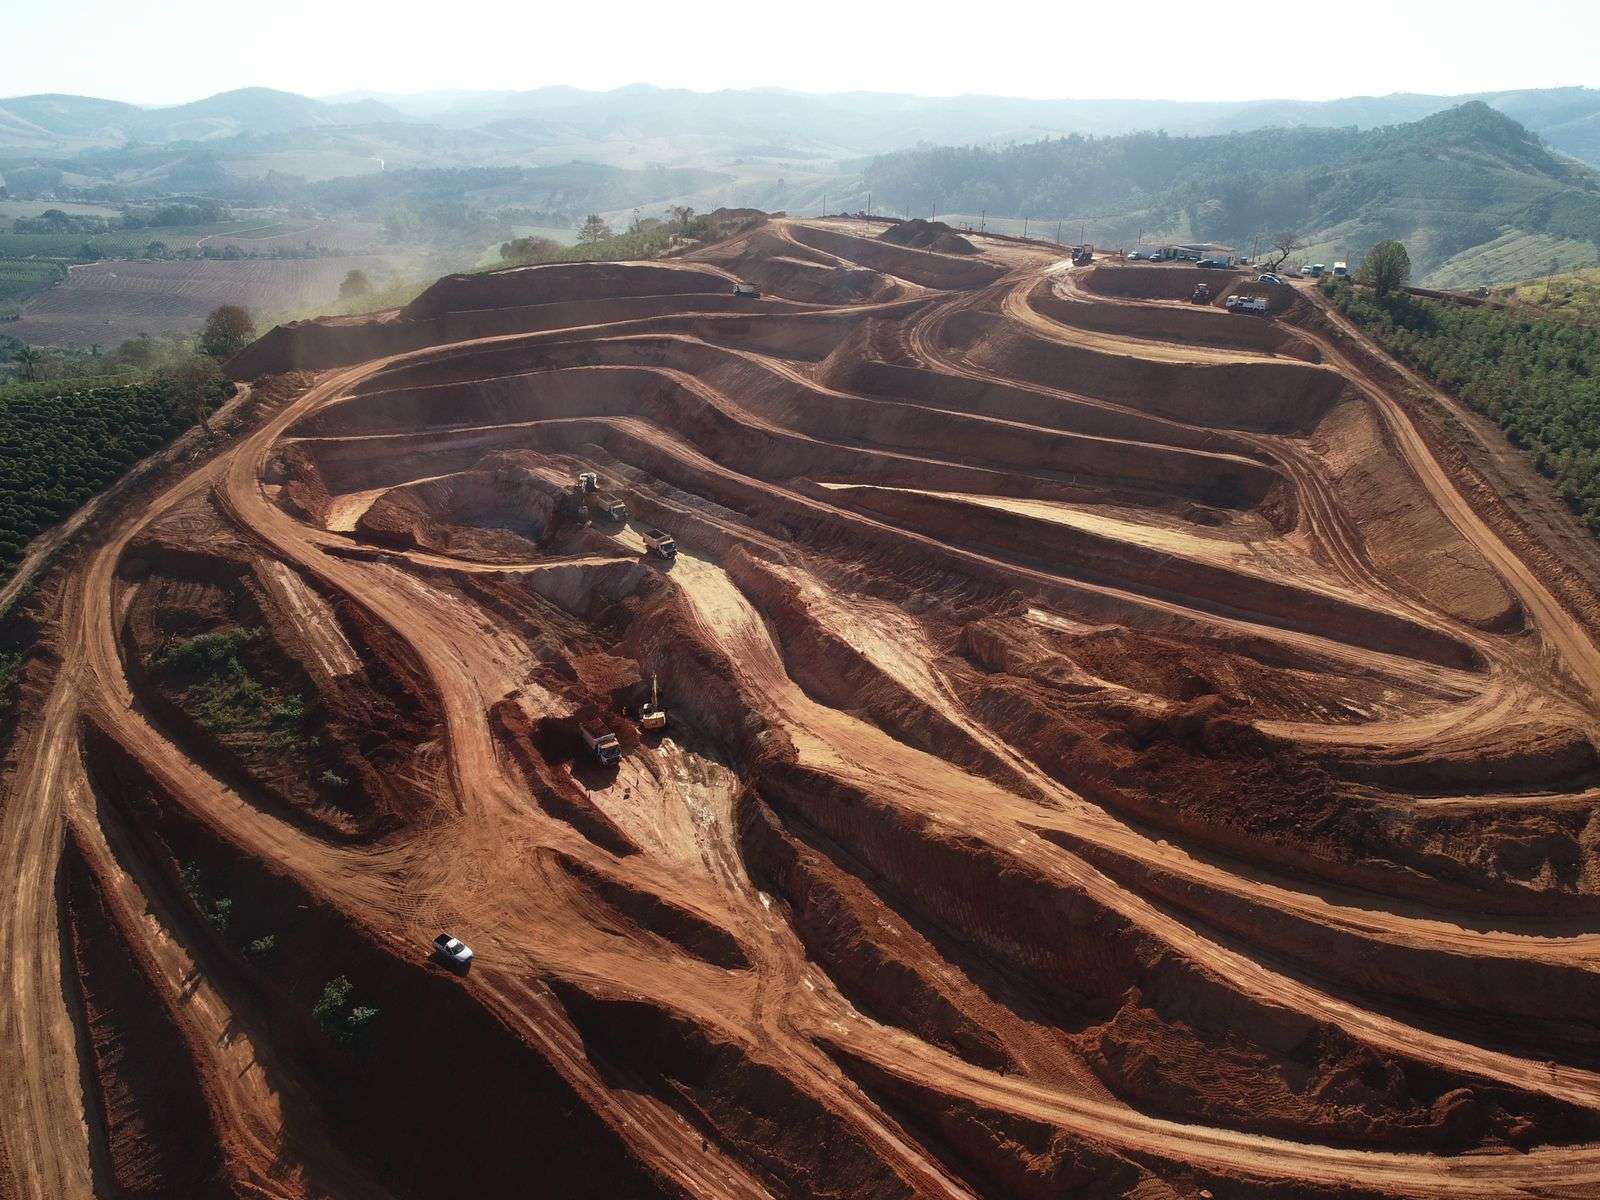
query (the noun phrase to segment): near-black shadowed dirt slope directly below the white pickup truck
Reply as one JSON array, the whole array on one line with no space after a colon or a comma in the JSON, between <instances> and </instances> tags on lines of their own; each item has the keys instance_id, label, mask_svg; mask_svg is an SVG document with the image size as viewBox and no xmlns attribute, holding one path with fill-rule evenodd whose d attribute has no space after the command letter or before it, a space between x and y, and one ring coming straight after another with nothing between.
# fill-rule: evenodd
<instances>
[{"instance_id":1,"label":"near-black shadowed dirt slope directly below the white pickup truck","mask_svg":"<svg viewBox=\"0 0 1600 1200\"><path fill-rule=\"evenodd\" d=\"M538 1053L442 968L395 958L282 864L248 856L163 794L110 739L91 736L90 747L102 802L138 830L146 859L168 880L170 902L192 902L179 883L184 867L208 901L232 902L224 926L195 926L213 982L242 1008L278 1014L277 1043L320 1102L318 1120L390 1186L419 1197L550 1186L574 1197L669 1194ZM269 950L242 949L267 936ZM379 1010L357 1050L330 1042L312 1019L339 976ZM462 1062L474 1070L462 1072ZM453 1154L432 1154L437 1146Z\"/></svg>"}]
</instances>

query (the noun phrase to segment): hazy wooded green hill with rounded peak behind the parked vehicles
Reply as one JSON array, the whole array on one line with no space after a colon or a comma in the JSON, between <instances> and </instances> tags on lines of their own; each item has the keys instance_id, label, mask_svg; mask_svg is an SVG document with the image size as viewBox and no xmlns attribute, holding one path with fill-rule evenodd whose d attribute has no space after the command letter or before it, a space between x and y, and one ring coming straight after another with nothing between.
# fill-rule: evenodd
<instances>
[{"instance_id":1,"label":"hazy wooded green hill with rounded peak behind the parked vehicles","mask_svg":"<svg viewBox=\"0 0 1600 1200\"><path fill-rule=\"evenodd\" d=\"M1600 173L1480 101L1378 130L1139 133L882 155L875 197L923 213L1066 218L1102 243L1222 242L1293 229L1306 258L1358 261L1382 238L1451 286L1600 262Z\"/></svg>"}]
</instances>

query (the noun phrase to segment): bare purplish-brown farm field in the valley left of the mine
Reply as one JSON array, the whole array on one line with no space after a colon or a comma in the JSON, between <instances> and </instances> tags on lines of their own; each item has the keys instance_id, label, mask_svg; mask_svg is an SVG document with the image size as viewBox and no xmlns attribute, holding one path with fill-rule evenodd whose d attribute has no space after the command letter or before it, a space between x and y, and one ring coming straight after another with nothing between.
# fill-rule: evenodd
<instances>
[{"instance_id":1,"label":"bare purplish-brown farm field in the valley left of the mine","mask_svg":"<svg viewBox=\"0 0 1600 1200\"><path fill-rule=\"evenodd\" d=\"M35 296L5 333L40 346L114 346L142 333L192 333L218 304L258 314L333 307L350 270L382 275L384 256L192 262L91 262Z\"/></svg>"}]
</instances>

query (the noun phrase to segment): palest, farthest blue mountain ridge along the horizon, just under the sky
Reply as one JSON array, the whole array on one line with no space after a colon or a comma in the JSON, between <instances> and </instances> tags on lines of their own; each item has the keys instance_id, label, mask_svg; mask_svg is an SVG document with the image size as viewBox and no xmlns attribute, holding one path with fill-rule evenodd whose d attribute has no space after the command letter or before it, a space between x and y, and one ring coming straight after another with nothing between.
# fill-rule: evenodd
<instances>
[{"instance_id":1,"label":"palest, farthest blue mountain ridge along the horizon, just under the sky","mask_svg":"<svg viewBox=\"0 0 1600 1200\"><path fill-rule=\"evenodd\" d=\"M598 157L616 165L642 165L622 162L627 154L666 154L672 165L683 166L728 155L851 158L922 142L987 144L1070 133L1115 136L1166 130L1202 136L1352 125L1366 130L1421 120L1472 99L1515 118L1552 149L1600 165L1600 90L1594 88L1237 102L813 94L771 88L701 93L650 85L613 91L549 86L411 96L347 93L312 99L242 88L154 109L88 96L18 96L0 99L0 158L61 158L130 142L206 142L240 134L411 123L442 131L435 139L442 162L411 163L418 166L504 163L507 147L525 142L608 147Z\"/></svg>"}]
</instances>

